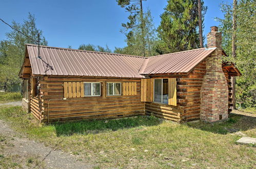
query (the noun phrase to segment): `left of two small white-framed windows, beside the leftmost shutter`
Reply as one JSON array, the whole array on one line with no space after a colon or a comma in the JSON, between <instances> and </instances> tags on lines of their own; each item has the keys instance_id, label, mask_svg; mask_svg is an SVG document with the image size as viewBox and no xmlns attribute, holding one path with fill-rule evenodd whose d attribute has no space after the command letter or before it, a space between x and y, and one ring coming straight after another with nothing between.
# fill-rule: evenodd
<instances>
[{"instance_id":1,"label":"left of two small white-framed windows, beside the leftmost shutter","mask_svg":"<svg viewBox=\"0 0 256 169\"><path fill-rule=\"evenodd\" d=\"M84 96L101 96L101 83L84 82Z\"/></svg>"}]
</instances>

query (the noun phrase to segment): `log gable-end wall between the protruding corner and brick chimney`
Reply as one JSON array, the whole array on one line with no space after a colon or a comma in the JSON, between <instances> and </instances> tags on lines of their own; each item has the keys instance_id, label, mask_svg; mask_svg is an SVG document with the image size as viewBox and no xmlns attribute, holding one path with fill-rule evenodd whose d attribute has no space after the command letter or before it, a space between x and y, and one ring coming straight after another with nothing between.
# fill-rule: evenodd
<instances>
[{"instance_id":1,"label":"log gable-end wall between the protruding corner and brick chimney","mask_svg":"<svg viewBox=\"0 0 256 169\"><path fill-rule=\"evenodd\" d=\"M188 78L177 79L177 102L182 110L181 121L200 119L201 87L206 72L206 62L196 66Z\"/></svg>"}]
</instances>

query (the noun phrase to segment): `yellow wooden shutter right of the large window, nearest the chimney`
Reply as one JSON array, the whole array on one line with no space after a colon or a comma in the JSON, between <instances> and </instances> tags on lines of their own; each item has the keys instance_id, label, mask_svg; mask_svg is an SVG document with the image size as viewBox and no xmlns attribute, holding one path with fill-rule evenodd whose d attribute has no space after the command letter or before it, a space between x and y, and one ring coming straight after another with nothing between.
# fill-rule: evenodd
<instances>
[{"instance_id":1,"label":"yellow wooden shutter right of the large window, nearest the chimney","mask_svg":"<svg viewBox=\"0 0 256 169\"><path fill-rule=\"evenodd\" d=\"M176 78L168 78L168 104L177 105Z\"/></svg>"}]
</instances>

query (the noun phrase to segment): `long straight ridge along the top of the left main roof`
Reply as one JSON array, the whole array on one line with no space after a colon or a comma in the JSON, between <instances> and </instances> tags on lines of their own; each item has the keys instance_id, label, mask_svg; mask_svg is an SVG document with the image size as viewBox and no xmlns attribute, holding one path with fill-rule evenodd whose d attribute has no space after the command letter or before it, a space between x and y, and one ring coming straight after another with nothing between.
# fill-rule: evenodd
<instances>
[{"instance_id":1,"label":"long straight ridge along the top of the left main roof","mask_svg":"<svg viewBox=\"0 0 256 169\"><path fill-rule=\"evenodd\" d=\"M37 46L37 45L34 45L34 44L25 44L25 45L27 45L27 46ZM50 46L45 46L45 45L40 45L40 47L62 49L62 50L70 50L70 51L80 51L80 52L88 52L88 53L101 53L101 54L110 54L110 55L119 55L119 56L128 56L128 57L148 58L148 57L144 57L144 56L125 55L125 54L120 54L120 53L109 53L109 52L98 52L98 51L87 51L87 50L60 48L60 47L50 47Z\"/></svg>"}]
</instances>

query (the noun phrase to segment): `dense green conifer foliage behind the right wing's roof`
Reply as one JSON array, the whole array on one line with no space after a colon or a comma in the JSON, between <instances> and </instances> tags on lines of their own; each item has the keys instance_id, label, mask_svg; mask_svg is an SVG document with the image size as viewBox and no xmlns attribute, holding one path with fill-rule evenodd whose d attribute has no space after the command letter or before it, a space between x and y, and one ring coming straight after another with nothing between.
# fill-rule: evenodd
<instances>
[{"instance_id":1,"label":"dense green conifer foliage behind the right wing's roof","mask_svg":"<svg viewBox=\"0 0 256 169\"><path fill-rule=\"evenodd\" d=\"M207 7L202 1L202 22L206 11ZM157 53L173 53L200 47L197 0L169 0L160 17Z\"/></svg>"}]
</instances>

